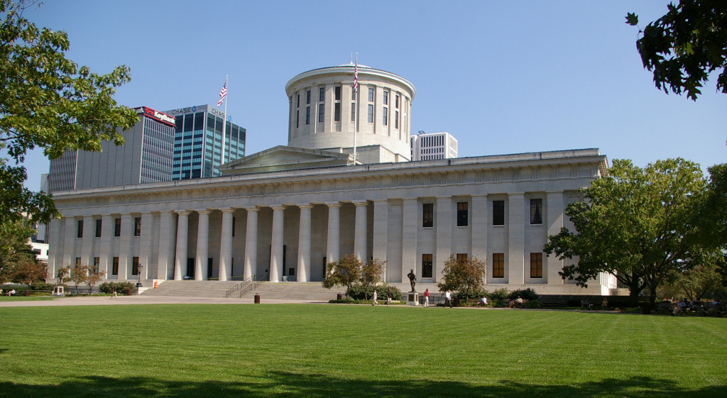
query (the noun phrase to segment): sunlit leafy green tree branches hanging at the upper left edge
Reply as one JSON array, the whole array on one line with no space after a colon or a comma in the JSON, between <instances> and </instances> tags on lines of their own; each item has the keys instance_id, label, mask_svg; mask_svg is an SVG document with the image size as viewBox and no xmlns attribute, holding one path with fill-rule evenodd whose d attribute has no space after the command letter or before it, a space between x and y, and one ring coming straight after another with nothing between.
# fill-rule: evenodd
<instances>
[{"instance_id":1,"label":"sunlit leafy green tree branches hanging at the upper left edge","mask_svg":"<svg viewBox=\"0 0 727 398\"><path fill-rule=\"evenodd\" d=\"M0 0L0 225L28 217L47 223L58 216L43 192L23 187L25 154L44 148L51 159L65 150L101 150L102 140L121 145L116 131L138 121L134 110L116 105L116 87L130 80L129 68L93 73L65 58L68 35L38 28L25 17L37 1Z\"/></svg>"}]
</instances>

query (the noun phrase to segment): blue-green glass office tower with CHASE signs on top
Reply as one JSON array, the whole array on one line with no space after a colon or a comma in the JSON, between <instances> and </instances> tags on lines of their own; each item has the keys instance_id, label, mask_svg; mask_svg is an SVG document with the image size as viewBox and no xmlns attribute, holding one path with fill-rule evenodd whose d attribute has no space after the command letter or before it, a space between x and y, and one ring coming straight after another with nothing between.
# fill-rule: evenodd
<instances>
[{"instance_id":1,"label":"blue-green glass office tower with CHASE signs on top","mask_svg":"<svg viewBox=\"0 0 727 398\"><path fill-rule=\"evenodd\" d=\"M174 116L172 179L220 176L217 166L245 155L246 130L228 121L225 126L225 157L222 158L222 110L196 105L167 110Z\"/></svg>"}]
</instances>

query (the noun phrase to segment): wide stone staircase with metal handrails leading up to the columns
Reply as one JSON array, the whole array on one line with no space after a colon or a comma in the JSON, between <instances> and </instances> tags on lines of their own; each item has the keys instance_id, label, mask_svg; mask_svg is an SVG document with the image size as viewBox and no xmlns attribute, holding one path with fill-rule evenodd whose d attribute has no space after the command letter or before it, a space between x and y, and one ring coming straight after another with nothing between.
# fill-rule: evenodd
<instances>
[{"instance_id":1,"label":"wide stone staircase with metal handrails leading up to the columns","mask_svg":"<svg viewBox=\"0 0 727 398\"><path fill-rule=\"evenodd\" d=\"M227 292L238 285L239 281L220 282L217 280L166 280L159 283L158 288L143 291L143 296L182 296L182 297L216 297L225 298ZM145 284L146 286L146 284ZM320 282L257 282L251 291L242 297L252 298L260 294L261 299L289 299L307 301L329 301L336 299L337 293L344 293L345 288L324 289ZM239 299L241 293L236 292L230 298Z\"/></svg>"}]
</instances>

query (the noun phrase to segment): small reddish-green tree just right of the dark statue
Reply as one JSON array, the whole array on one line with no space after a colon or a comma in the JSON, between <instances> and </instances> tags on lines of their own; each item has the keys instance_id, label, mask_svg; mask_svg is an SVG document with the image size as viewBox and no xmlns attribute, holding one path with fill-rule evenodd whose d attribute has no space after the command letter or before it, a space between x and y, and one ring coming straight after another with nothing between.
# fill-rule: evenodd
<instances>
[{"instance_id":1,"label":"small reddish-green tree just right of the dark statue","mask_svg":"<svg viewBox=\"0 0 727 398\"><path fill-rule=\"evenodd\" d=\"M451 254L444 262L442 280L437 283L439 291L457 291L470 297L470 292L480 291L483 288L486 276L486 265L477 257L457 259Z\"/></svg>"}]
</instances>

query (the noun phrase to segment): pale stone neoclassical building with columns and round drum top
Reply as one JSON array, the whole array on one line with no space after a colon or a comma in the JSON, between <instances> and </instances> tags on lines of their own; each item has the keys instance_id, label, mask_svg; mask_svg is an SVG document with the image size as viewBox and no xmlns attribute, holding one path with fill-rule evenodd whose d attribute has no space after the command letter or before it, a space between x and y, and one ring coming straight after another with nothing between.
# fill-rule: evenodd
<instances>
[{"instance_id":1,"label":"pale stone neoclassical building with columns and round drum top","mask_svg":"<svg viewBox=\"0 0 727 398\"><path fill-rule=\"evenodd\" d=\"M55 193L63 219L49 227L50 271L81 262L136 280L142 264L142 280L320 281L326 262L354 253L385 260L389 283L412 268L434 283L457 254L486 261L490 289L616 288L606 275L587 291L564 283L563 261L542 253L547 235L569 226L563 211L582 199L579 188L607 172L606 156L585 149L409 162L404 114L414 87L364 67L358 81L366 114L374 108L356 130L369 155L353 160L346 137L356 123L336 116L356 104L353 66L302 73L286 87L289 146L226 163L220 177ZM309 112L309 92L316 112L306 125L298 118ZM337 103L348 105L337 111Z\"/></svg>"}]
</instances>

